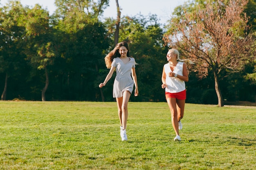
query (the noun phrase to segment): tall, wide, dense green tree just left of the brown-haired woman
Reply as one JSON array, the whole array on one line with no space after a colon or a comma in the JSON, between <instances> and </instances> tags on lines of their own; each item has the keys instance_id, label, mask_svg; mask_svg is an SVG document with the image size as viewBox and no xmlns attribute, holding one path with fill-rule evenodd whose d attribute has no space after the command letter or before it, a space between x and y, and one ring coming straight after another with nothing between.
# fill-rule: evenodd
<instances>
[{"instance_id":1,"label":"tall, wide, dense green tree just left of the brown-haired woman","mask_svg":"<svg viewBox=\"0 0 256 170\"><path fill-rule=\"evenodd\" d=\"M96 80L101 76L104 52L110 39L106 26L99 21L108 0L56 0L55 13L61 32L60 53L65 60L63 76L68 99L98 100ZM100 91L100 90L99 90ZM101 93L104 99L103 93Z\"/></svg>"}]
</instances>

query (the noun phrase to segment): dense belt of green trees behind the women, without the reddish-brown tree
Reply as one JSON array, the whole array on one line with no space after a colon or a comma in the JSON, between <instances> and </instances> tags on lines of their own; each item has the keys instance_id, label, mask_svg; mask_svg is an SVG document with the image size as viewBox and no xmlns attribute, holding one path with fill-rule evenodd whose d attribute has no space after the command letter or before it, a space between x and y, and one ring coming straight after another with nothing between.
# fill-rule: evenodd
<instances>
[{"instance_id":1,"label":"dense belt of green trees behind the women, without the reddish-brown tree","mask_svg":"<svg viewBox=\"0 0 256 170\"><path fill-rule=\"evenodd\" d=\"M227 4L228 1L222 2ZM115 75L104 88L98 87L109 71L106 69L104 57L115 46L116 20L107 18L104 22L100 21L108 3L108 0L55 0L57 10L53 15L49 15L38 4L34 7L23 7L19 1L9 1L6 6L1 7L0 89L4 89L7 75L6 99L40 100L47 68L48 100L102 101L104 97L105 101L115 101L112 98ZM250 17L247 24L251 27L248 32L255 28L254 4L254 0L249 0L244 10ZM164 46L163 35L166 31L170 33L177 29L174 23L184 19L185 12L200 12L199 7L206 7L204 1L190 1L177 7L172 16L174 22L170 22L170 26L164 29L158 23L156 15L121 18L119 41L129 42L130 54L138 63L136 73L139 96L134 97L132 94L131 101L165 101L161 75L168 47ZM237 35L245 32L238 31ZM183 59L188 57L183 51L180 54ZM197 64L205 66L203 62ZM224 99L255 101L254 66L255 61L245 64L239 76L227 76L230 73L227 69L220 73ZM202 94L208 94L207 92L215 88L213 68L205 68L209 71L205 79L198 79L196 72L189 75L189 82L186 82L186 101L189 103L204 104L209 97L202 97ZM208 102L215 104L215 97Z\"/></svg>"}]
</instances>

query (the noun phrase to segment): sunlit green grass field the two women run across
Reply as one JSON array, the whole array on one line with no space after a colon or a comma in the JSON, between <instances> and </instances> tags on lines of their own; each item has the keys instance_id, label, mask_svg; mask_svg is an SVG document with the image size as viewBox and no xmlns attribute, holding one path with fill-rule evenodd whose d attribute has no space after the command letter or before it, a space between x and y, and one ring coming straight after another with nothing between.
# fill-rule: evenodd
<instances>
[{"instance_id":1,"label":"sunlit green grass field the two women run across","mask_svg":"<svg viewBox=\"0 0 256 170\"><path fill-rule=\"evenodd\" d=\"M0 102L1 170L255 170L256 107L186 104L182 141L166 103Z\"/></svg>"}]
</instances>

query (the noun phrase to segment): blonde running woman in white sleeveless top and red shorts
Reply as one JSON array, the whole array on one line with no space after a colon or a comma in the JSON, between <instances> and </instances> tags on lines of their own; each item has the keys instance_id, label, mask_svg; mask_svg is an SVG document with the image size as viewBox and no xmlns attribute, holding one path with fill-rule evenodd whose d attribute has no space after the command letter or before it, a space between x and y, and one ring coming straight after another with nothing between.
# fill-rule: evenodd
<instances>
[{"instance_id":1,"label":"blonde running woman in white sleeveless top and red shorts","mask_svg":"<svg viewBox=\"0 0 256 170\"><path fill-rule=\"evenodd\" d=\"M166 55L168 63L164 65L162 73L162 88L165 88L165 97L171 111L171 121L176 133L174 141L181 141L179 129L182 129L181 119L184 115L186 100L185 82L189 75L184 60L180 60L179 51L170 49ZM189 60L190 64L193 64Z\"/></svg>"}]
</instances>

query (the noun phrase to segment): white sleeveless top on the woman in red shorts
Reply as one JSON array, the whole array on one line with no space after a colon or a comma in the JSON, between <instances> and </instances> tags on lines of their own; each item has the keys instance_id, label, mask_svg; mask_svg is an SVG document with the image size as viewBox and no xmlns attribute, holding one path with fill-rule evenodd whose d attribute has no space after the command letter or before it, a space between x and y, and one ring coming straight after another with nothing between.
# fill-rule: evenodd
<instances>
[{"instance_id":1,"label":"white sleeveless top on the woman in red shorts","mask_svg":"<svg viewBox=\"0 0 256 170\"><path fill-rule=\"evenodd\" d=\"M176 73L178 75L183 75L183 64L184 62L178 62L173 70L173 73ZM169 73L172 72L169 63L164 64L164 72L166 74L166 84L167 84L167 87L165 88L166 92L178 93L186 89L185 82L183 80L177 77L168 76Z\"/></svg>"}]
</instances>

